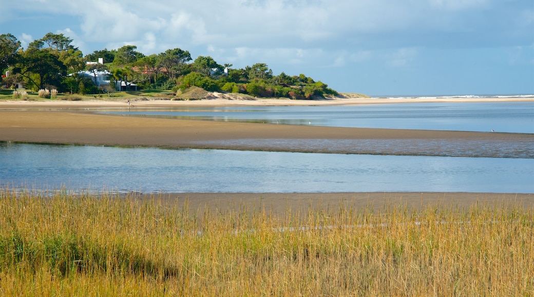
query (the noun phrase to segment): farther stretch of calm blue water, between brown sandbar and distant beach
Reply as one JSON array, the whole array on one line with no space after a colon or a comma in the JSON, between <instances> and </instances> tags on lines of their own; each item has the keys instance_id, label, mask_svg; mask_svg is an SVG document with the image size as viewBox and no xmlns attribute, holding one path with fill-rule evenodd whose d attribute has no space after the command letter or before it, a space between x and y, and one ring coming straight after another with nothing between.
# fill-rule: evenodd
<instances>
[{"instance_id":1,"label":"farther stretch of calm blue water, between brown sandbar and distant beach","mask_svg":"<svg viewBox=\"0 0 534 297\"><path fill-rule=\"evenodd\" d=\"M534 102L131 108L101 113L329 127L534 133Z\"/></svg>"}]
</instances>

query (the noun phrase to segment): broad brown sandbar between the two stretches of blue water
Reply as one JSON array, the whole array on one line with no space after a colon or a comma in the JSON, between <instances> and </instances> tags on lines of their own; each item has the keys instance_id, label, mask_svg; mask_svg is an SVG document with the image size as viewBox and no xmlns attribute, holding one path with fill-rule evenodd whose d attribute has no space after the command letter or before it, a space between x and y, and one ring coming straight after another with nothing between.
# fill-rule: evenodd
<instances>
[{"instance_id":1,"label":"broad brown sandbar between the two stretches of blue water","mask_svg":"<svg viewBox=\"0 0 534 297\"><path fill-rule=\"evenodd\" d=\"M534 143L534 135L154 119L68 111L0 111L0 141L368 154L373 152L365 146L355 148L351 143L370 140L528 144ZM305 146L299 145L299 141L332 145ZM268 145L253 146L256 142ZM427 147L396 149L400 150L396 154L431 155Z\"/></svg>"}]
</instances>

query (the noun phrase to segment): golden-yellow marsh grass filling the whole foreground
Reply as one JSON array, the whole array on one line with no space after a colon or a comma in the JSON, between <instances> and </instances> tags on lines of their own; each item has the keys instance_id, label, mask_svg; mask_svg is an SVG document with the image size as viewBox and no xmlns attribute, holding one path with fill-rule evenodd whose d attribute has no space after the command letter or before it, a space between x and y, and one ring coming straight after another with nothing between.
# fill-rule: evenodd
<instances>
[{"instance_id":1,"label":"golden-yellow marsh grass filling the whole foreground","mask_svg":"<svg viewBox=\"0 0 534 297\"><path fill-rule=\"evenodd\" d=\"M45 193L45 192L43 192ZM532 295L532 207L191 210L0 189L0 295Z\"/></svg>"}]
</instances>

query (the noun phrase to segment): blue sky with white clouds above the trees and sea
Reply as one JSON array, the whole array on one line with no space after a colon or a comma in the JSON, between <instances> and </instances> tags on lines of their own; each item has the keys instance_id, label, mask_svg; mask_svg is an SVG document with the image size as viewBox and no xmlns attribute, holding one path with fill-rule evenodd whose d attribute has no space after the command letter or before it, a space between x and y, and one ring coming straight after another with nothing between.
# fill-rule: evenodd
<instances>
[{"instance_id":1,"label":"blue sky with white clouds above the trees and sea","mask_svg":"<svg viewBox=\"0 0 534 297\"><path fill-rule=\"evenodd\" d=\"M181 48L338 92L534 94L532 0L0 0L0 34L48 32L84 55Z\"/></svg>"}]
</instances>

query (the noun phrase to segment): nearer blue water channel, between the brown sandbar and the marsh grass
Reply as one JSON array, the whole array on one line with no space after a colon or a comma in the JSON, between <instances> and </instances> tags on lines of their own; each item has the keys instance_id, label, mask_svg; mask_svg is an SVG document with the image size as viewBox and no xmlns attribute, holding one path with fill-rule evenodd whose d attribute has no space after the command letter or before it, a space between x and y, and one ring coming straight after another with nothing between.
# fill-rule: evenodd
<instances>
[{"instance_id":1,"label":"nearer blue water channel, between the brown sandbar and the marsh grass","mask_svg":"<svg viewBox=\"0 0 534 297\"><path fill-rule=\"evenodd\" d=\"M0 143L0 185L141 192L534 193L534 159Z\"/></svg>"}]
</instances>

